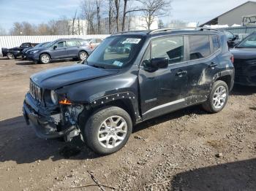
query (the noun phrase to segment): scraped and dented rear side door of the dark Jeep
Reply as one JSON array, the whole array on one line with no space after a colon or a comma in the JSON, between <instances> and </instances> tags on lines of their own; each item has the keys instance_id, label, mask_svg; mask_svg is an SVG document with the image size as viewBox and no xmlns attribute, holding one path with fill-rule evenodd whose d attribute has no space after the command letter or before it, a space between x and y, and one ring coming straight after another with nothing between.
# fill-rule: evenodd
<instances>
[{"instance_id":1,"label":"scraped and dented rear side door of the dark Jeep","mask_svg":"<svg viewBox=\"0 0 256 191\"><path fill-rule=\"evenodd\" d=\"M213 37L215 38L213 39ZM208 34L186 36L188 47L188 105L205 101L209 94L219 64L216 54L219 49L219 44L216 42L217 37ZM217 50L213 50L214 42Z\"/></svg>"}]
</instances>

